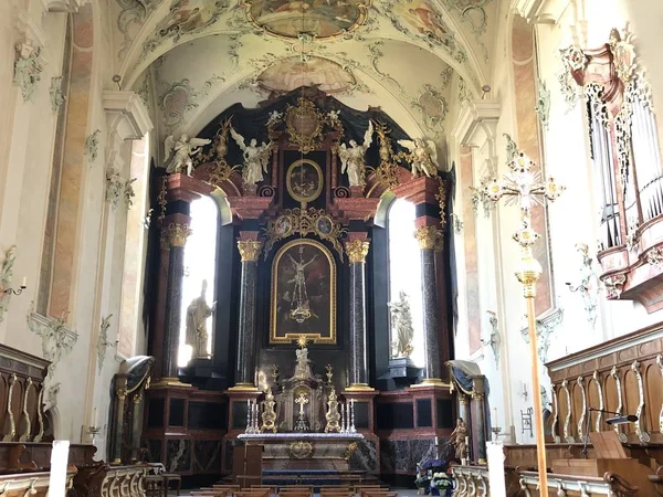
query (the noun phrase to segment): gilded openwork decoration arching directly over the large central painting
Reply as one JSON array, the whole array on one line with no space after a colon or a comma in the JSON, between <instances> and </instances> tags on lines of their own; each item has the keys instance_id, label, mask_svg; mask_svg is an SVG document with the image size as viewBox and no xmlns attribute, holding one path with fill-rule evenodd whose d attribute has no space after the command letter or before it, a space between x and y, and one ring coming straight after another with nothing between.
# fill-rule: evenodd
<instances>
[{"instance_id":1,"label":"gilded openwork decoration arching directly over the large central painting","mask_svg":"<svg viewBox=\"0 0 663 497\"><path fill-rule=\"evenodd\" d=\"M265 229L267 240L265 241L264 257L267 258L274 243L280 240L287 239L294 234L302 236L315 234L322 240L329 242L343 261L340 236L346 231L347 229L343 228L338 221L323 209L286 209L281 212L278 218L267 223L267 228Z\"/></svg>"}]
</instances>

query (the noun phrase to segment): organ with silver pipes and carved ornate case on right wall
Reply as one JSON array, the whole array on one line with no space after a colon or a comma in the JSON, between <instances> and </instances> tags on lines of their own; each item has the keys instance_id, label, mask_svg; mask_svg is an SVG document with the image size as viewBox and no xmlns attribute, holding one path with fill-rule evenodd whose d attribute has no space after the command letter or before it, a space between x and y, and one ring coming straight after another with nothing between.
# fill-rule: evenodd
<instances>
[{"instance_id":1,"label":"organ with silver pipes and carved ornate case on right wall","mask_svg":"<svg viewBox=\"0 0 663 497\"><path fill-rule=\"evenodd\" d=\"M593 167L602 178L598 260L607 298L638 299L648 311L657 310L663 287L644 292L643 284L663 269L649 255L657 244L643 234L663 221L663 169L651 91L633 35L613 29L603 46L570 46L561 57L560 82L568 83L562 88L585 96ZM630 273L648 264L644 281L631 282Z\"/></svg>"}]
</instances>

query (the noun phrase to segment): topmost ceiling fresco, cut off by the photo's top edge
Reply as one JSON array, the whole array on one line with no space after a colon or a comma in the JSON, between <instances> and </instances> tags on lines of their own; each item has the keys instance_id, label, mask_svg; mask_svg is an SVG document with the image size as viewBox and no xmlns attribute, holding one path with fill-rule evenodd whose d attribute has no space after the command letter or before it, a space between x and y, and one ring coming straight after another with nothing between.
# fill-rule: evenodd
<instances>
[{"instance_id":1,"label":"topmost ceiling fresco, cut off by the photo's top edge","mask_svg":"<svg viewBox=\"0 0 663 497\"><path fill-rule=\"evenodd\" d=\"M369 0L245 0L246 18L257 28L280 38L316 39L347 35L368 18Z\"/></svg>"}]
</instances>

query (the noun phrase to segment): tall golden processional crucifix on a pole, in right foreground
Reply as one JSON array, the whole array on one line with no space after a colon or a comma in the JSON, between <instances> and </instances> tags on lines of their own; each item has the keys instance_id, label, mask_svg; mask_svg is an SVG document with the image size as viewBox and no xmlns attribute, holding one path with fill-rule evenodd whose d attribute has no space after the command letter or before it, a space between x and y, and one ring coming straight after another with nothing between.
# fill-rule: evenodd
<instances>
[{"instance_id":1,"label":"tall golden processional crucifix on a pole, in right foreground","mask_svg":"<svg viewBox=\"0 0 663 497\"><path fill-rule=\"evenodd\" d=\"M538 458L538 475L540 497L548 497L548 477L546 473L546 441L544 436L544 411L541 405L538 345L536 337L536 310L534 298L536 297L536 282L541 276L543 268L534 258L532 246L539 234L532 228L533 202L543 205L543 199L550 201L557 199L565 187L558 184L552 178L545 182L540 181L540 175L533 172L534 162L520 152L508 163L511 175L505 175L503 180L493 179L484 187L484 194L497 202L502 197L511 197L513 203L520 208L520 229L514 234L522 250L522 266L516 273L518 282L523 284L525 299L527 302L527 322L529 326L529 353L532 356L532 383L534 392L534 424L536 430L536 452Z\"/></svg>"}]
</instances>

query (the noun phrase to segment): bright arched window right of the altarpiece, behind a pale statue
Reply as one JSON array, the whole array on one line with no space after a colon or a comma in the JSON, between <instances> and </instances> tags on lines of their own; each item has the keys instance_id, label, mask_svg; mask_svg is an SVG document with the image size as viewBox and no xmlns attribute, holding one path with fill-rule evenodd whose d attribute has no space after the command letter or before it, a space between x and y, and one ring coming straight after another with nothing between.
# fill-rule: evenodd
<instances>
[{"instance_id":1,"label":"bright arched window right of the altarpiece, behind a pale statue","mask_svg":"<svg viewBox=\"0 0 663 497\"><path fill-rule=\"evenodd\" d=\"M389 302L394 303L404 292L410 304L412 328L412 355L417 366L423 366L423 304L421 293L421 254L414 237L414 204L397 199L389 209ZM393 326L391 326L393 330ZM391 357L397 357L391 337Z\"/></svg>"}]
</instances>

